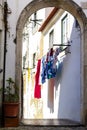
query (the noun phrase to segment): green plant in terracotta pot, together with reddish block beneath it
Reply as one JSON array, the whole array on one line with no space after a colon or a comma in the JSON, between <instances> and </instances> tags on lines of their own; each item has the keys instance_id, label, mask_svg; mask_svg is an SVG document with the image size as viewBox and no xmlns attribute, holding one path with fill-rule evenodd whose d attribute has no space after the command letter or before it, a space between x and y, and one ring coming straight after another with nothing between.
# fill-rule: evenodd
<instances>
[{"instance_id":1,"label":"green plant in terracotta pot, together with reddish block beneath it","mask_svg":"<svg viewBox=\"0 0 87 130\"><path fill-rule=\"evenodd\" d=\"M11 77L6 80L7 86L4 88L4 123L5 126L15 126L13 119L17 119L19 115L19 88ZM0 91L3 89L1 88ZM12 121L12 123L11 123Z\"/></svg>"}]
</instances>

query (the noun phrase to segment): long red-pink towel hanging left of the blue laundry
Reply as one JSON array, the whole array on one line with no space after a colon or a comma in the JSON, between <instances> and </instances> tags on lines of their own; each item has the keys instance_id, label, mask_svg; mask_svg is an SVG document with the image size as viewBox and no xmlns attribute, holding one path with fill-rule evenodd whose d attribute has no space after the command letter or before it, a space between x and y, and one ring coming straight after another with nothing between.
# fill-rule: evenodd
<instances>
[{"instance_id":1,"label":"long red-pink towel hanging left of the blue laundry","mask_svg":"<svg viewBox=\"0 0 87 130\"><path fill-rule=\"evenodd\" d=\"M37 62L37 69L35 75L35 89L34 89L35 98L41 98L41 85L39 84L40 67L41 67L41 60L39 59Z\"/></svg>"}]
</instances>

